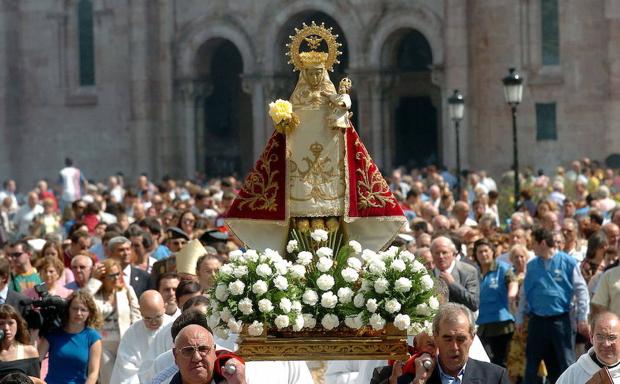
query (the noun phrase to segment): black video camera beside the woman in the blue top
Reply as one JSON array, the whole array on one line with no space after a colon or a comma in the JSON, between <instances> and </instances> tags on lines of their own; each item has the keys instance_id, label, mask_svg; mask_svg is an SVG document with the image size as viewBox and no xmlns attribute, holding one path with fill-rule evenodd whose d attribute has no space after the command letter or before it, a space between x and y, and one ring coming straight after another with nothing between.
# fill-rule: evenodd
<instances>
[{"instance_id":1,"label":"black video camera beside the woman in the blue top","mask_svg":"<svg viewBox=\"0 0 620 384\"><path fill-rule=\"evenodd\" d=\"M67 302L60 296L50 295L45 283L35 285L34 290L39 295L38 300L26 299L20 303L26 306L24 317L28 326L38 329L44 336L62 327Z\"/></svg>"}]
</instances>

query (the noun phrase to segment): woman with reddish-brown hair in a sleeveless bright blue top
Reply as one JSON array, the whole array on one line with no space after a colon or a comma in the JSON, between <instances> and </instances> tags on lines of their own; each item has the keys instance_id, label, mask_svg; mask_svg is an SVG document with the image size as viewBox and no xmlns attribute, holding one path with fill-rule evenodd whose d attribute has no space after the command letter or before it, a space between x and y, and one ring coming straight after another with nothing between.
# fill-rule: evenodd
<instances>
[{"instance_id":1,"label":"woman with reddish-brown hair in a sleeveless bright blue top","mask_svg":"<svg viewBox=\"0 0 620 384\"><path fill-rule=\"evenodd\" d=\"M48 384L96 384L101 360L101 314L85 290L73 293L62 327L39 340L41 359L49 352Z\"/></svg>"}]
</instances>

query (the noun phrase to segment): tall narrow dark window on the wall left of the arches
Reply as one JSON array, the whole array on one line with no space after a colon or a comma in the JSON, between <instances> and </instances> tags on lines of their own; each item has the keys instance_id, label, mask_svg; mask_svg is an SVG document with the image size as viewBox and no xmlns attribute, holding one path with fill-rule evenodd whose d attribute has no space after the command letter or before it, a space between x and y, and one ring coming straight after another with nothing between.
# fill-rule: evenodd
<instances>
[{"instance_id":1,"label":"tall narrow dark window on the wall left of the arches","mask_svg":"<svg viewBox=\"0 0 620 384\"><path fill-rule=\"evenodd\" d=\"M93 29L93 3L78 3L78 46L80 86L95 85L95 39Z\"/></svg>"}]
</instances>

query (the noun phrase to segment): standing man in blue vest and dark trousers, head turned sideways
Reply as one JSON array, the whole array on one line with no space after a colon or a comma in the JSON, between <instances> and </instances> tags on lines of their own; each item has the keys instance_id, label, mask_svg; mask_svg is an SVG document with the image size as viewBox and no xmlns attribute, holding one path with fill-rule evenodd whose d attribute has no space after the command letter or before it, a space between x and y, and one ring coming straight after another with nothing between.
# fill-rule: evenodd
<instances>
[{"instance_id":1,"label":"standing man in blue vest and dark trousers, head turned sideways","mask_svg":"<svg viewBox=\"0 0 620 384\"><path fill-rule=\"evenodd\" d=\"M525 350L525 383L538 383L538 365L545 361L549 381L555 383L574 361L574 334L569 312L573 297L577 330L588 337L588 287L577 261L558 251L553 234L546 229L532 233L536 258L527 265L517 313L517 332L529 319Z\"/></svg>"}]
</instances>

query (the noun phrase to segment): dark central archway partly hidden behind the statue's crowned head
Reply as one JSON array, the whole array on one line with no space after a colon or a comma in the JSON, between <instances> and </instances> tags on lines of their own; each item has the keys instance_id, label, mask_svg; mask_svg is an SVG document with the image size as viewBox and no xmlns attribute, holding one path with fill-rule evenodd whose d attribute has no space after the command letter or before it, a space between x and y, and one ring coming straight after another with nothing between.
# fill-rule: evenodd
<instances>
[{"instance_id":1,"label":"dark central archway partly hidden behind the statue's crowned head","mask_svg":"<svg viewBox=\"0 0 620 384\"><path fill-rule=\"evenodd\" d=\"M293 17L289 18L288 21L284 24L284 26L280 29L278 33L278 46L279 51L277 51L277 55L274 58L276 68L274 72L274 78L276 79L278 86L276 87L276 97L282 99L288 99L288 97L293 92L295 88L295 83L297 81L297 73L293 73L293 67L291 64L288 64L288 56L285 56L284 53L288 52L288 48L286 44L290 42L290 35L295 34L295 28L301 28L303 23L310 25L312 22L315 22L318 25L321 23L325 24L326 28L332 28L332 33L338 35L337 40L342 46L339 48L342 55L338 57L340 61L339 64L334 65L334 71L330 72L329 77L332 82L338 88L338 82L347 75L346 71L349 67L349 48L347 45L347 40L344 35L344 32L340 25L328 14L320 11L304 11L300 12ZM353 89L355 89L355 84L353 84ZM353 122L355 124L355 118L357 114L355 113L356 105L355 102L355 93L353 92L351 95L353 102Z\"/></svg>"}]
</instances>

